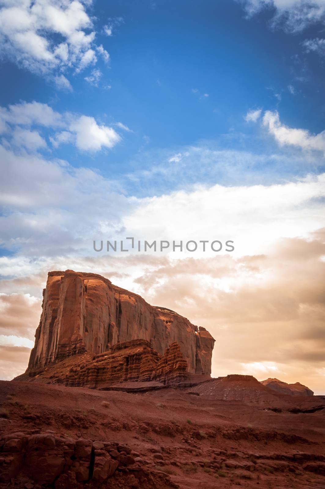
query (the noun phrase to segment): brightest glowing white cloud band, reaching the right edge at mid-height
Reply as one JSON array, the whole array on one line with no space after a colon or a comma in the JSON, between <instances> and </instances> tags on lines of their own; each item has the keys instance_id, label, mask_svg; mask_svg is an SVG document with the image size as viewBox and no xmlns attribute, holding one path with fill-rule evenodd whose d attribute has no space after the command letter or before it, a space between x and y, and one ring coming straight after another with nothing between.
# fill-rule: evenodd
<instances>
[{"instance_id":1,"label":"brightest glowing white cloud band, reaching the right edge at mid-height","mask_svg":"<svg viewBox=\"0 0 325 489\"><path fill-rule=\"evenodd\" d=\"M139 239L233 240L233 255L251 255L270 249L280 237L324 226L323 197L325 174L282 185L197 185L138 200L123 224Z\"/></svg>"}]
</instances>

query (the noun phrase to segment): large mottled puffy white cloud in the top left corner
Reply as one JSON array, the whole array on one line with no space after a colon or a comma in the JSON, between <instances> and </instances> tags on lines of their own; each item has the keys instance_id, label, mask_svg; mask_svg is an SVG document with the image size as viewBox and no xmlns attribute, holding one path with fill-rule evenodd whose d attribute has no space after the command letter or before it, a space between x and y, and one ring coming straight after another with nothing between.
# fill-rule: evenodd
<instances>
[{"instance_id":1,"label":"large mottled puffy white cloud in the top left corner","mask_svg":"<svg viewBox=\"0 0 325 489\"><path fill-rule=\"evenodd\" d=\"M2 2L0 52L19 66L41 73L60 68L81 71L96 62L97 49L107 58L103 46L94 44L93 22L86 12L90 4L79 0Z\"/></svg>"}]
</instances>

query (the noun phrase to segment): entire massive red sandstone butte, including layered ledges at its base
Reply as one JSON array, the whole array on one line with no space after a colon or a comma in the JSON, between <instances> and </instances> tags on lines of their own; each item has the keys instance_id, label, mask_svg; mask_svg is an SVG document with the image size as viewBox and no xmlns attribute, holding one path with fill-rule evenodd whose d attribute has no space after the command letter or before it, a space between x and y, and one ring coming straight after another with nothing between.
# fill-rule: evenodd
<instances>
[{"instance_id":1,"label":"entire massive red sandstone butte, including layered ledges at its base","mask_svg":"<svg viewBox=\"0 0 325 489\"><path fill-rule=\"evenodd\" d=\"M100 275L49 272L42 308L28 368L17 380L172 385L191 374L211 373L215 340L205 328ZM51 380L42 376L48 370Z\"/></svg>"}]
</instances>

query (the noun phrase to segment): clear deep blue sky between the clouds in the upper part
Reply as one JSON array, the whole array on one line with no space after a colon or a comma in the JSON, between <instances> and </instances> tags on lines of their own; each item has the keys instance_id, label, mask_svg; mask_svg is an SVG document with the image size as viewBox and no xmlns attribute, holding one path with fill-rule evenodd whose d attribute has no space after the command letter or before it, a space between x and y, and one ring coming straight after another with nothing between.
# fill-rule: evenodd
<instances>
[{"instance_id":1,"label":"clear deep blue sky between the clouds in the upper part","mask_svg":"<svg viewBox=\"0 0 325 489\"><path fill-rule=\"evenodd\" d=\"M50 73L40 76L3 55L2 106L36 100L61 113L92 116L101 124L122 122L132 131L124 132L111 150L80 152L68 144L51 147L51 158L96 168L104 177L123 177L128 194L144 195L124 176L150 168L157 158L163 163L164 153L174 149L179 152L205 141L208 146L257 155L277 151L272 138L245 122L244 115L252 108L278 110L281 122L289 127L311 133L324 129L324 58L306 53L302 45L322 35L321 21L291 34L281 25L269 25L274 9L248 18L235 1L203 1L200 6L188 1L95 2L89 16L95 16L96 44L107 50L110 61L98 59L80 73L66 68L63 73L73 91L56 89ZM111 24L112 35L107 36L103 27ZM98 86L85 80L93 69L101 72ZM48 135L45 128L42 133ZM302 175L310 168L293 163L291 174ZM266 168L266 174L270 172L274 179L282 176L272 162ZM202 178L240 184L250 170L244 168L243 174L233 181L220 180L218 172ZM283 177L289 174L284 164ZM256 180L256 174L251 177ZM169 185L177 187L177 179Z\"/></svg>"}]
</instances>

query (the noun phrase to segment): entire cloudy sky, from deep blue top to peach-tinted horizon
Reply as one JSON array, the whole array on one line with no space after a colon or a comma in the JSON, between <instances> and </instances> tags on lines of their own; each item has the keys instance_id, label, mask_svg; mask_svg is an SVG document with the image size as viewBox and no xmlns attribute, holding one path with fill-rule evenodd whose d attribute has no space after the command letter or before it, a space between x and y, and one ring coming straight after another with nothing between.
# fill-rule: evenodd
<instances>
[{"instance_id":1,"label":"entire cloudy sky, from deep blue top to peach-tinted horizon","mask_svg":"<svg viewBox=\"0 0 325 489\"><path fill-rule=\"evenodd\" d=\"M325 0L0 0L0 378L70 268L206 327L215 377L325 393L324 29Z\"/></svg>"}]
</instances>

